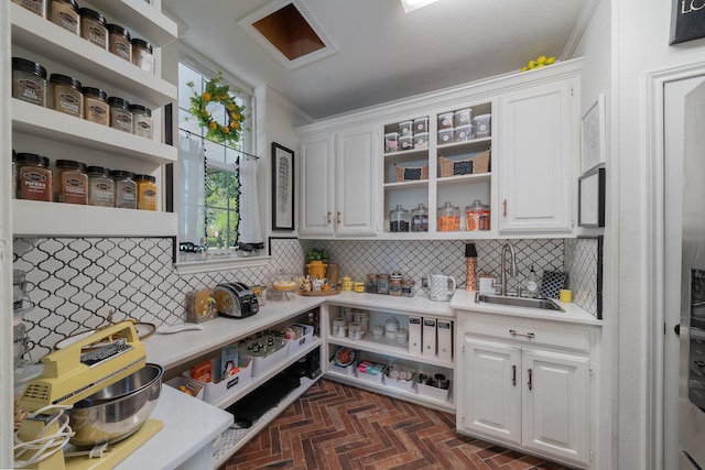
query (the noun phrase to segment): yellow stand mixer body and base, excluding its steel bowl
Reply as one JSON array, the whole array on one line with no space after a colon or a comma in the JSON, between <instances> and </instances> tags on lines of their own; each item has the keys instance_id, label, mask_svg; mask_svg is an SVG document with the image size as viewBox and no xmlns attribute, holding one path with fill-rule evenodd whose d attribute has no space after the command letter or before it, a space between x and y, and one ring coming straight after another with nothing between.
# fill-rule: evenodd
<instances>
[{"instance_id":1,"label":"yellow stand mixer body and base, excluding its steel bowl","mask_svg":"<svg viewBox=\"0 0 705 470\"><path fill-rule=\"evenodd\" d=\"M42 362L42 375L29 382L18 403L29 416L15 435L15 466L52 470L112 468L162 428L161 422L144 416L147 422L130 425L133 429L123 433L124 437L115 439L118 441L127 437L110 449L107 459L67 458L64 455L68 448L66 444L76 435L68 426L69 419L64 412L147 365L144 346L131 321L100 329L45 356ZM161 368L159 370L161 390L162 371ZM159 391L156 394L159 397ZM155 406L155 400L150 405ZM149 415L151 408L145 413ZM77 426L85 424L80 420L88 415L80 416ZM111 442L110 439L107 441Z\"/></svg>"}]
</instances>

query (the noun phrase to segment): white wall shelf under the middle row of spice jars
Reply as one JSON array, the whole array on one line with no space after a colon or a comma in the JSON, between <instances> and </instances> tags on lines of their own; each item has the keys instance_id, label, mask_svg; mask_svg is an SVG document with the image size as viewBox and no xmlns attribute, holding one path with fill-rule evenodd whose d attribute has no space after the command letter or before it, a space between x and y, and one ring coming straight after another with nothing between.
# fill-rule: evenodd
<instances>
[{"instance_id":1,"label":"white wall shelf under the middle row of spice jars","mask_svg":"<svg viewBox=\"0 0 705 470\"><path fill-rule=\"evenodd\" d=\"M12 130L82 147L119 154L162 165L178 159L175 146L129 134L86 119L12 98Z\"/></svg>"}]
</instances>

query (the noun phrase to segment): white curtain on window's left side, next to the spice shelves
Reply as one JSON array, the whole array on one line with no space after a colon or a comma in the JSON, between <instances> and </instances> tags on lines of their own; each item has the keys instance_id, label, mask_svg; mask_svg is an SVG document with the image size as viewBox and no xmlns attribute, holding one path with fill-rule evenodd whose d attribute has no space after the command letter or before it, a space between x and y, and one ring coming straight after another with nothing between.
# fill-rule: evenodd
<instances>
[{"instance_id":1,"label":"white curtain on window's left side, next to the spice shelves","mask_svg":"<svg viewBox=\"0 0 705 470\"><path fill-rule=\"evenodd\" d=\"M199 243L205 233L205 159L200 139L178 135L178 240Z\"/></svg>"}]
</instances>

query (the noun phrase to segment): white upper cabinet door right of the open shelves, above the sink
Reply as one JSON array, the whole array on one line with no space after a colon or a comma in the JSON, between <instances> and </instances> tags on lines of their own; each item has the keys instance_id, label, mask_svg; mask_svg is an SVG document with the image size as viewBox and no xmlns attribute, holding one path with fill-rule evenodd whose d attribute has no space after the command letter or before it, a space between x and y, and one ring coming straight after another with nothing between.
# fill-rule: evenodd
<instances>
[{"instance_id":1,"label":"white upper cabinet door right of the open shelves, above the sink","mask_svg":"<svg viewBox=\"0 0 705 470\"><path fill-rule=\"evenodd\" d=\"M576 160L574 80L534 86L499 98L501 233L568 233Z\"/></svg>"}]
</instances>

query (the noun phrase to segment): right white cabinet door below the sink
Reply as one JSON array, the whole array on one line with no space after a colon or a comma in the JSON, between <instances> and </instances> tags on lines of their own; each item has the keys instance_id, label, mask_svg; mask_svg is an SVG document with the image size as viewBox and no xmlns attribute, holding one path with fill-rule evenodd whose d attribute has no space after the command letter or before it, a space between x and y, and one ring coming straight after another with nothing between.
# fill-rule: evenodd
<instances>
[{"instance_id":1,"label":"right white cabinet door below the sink","mask_svg":"<svg viewBox=\"0 0 705 470\"><path fill-rule=\"evenodd\" d=\"M589 462L589 359L524 350L523 446L541 455Z\"/></svg>"}]
</instances>

